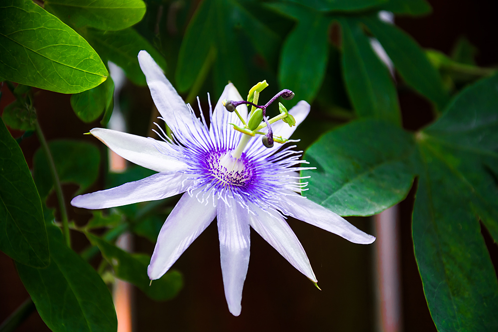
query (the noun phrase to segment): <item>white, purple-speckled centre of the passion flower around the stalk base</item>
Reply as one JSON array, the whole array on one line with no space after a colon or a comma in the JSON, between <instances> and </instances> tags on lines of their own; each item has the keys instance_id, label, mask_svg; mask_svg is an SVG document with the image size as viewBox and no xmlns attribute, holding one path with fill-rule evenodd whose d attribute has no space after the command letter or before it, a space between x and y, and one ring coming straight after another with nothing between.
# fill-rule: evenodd
<instances>
[{"instance_id":1,"label":"white, purple-speckled centre of the passion flower around the stalk base","mask_svg":"<svg viewBox=\"0 0 498 332\"><path fill-rule=\"evenodd\" d=\"M209 159L210 173L222 187L244 186L252 177L245 158L234 158L231 151L212 154Z\"/></svg>"}]
</instances>

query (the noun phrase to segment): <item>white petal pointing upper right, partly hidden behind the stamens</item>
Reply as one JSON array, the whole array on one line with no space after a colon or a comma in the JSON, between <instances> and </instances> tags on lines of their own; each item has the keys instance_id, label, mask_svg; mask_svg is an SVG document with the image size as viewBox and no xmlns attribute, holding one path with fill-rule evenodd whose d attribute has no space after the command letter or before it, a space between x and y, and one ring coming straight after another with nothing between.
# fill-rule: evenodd
<instances>
[{"instance_id":1,"label":"white petal pointing upper right, partly hidden behind the stamens","mask_svg":"<svg viewBox=\"0 0 498 332\"><path fill-rule=\"evenodd\" d=\"M311 108L310 105L305 101L300 101L299 103L297 103L297 105L294 106L289 111L289 114L294 116L294 119L296 120L296 125L290 127L284 121L281 120L277 121L271 124L271 130L273 130L273 135L282 136L282 138L289 139L290 136L294 133L294 130L296 130L297 126L299 126L299 124L303 122L306 116L308 116L310 108ZM267 129L263 128L261 131L267 132ZM248 151L248 153L251 154L258 153L260 156L269 156L270 154L278 150L282 145L283 144L275 143L273 147L266 148L261 142L261 136L256 135L256 137L252 138L251 141L249 142L246 151Z\"/></svg>"}]
</instances>

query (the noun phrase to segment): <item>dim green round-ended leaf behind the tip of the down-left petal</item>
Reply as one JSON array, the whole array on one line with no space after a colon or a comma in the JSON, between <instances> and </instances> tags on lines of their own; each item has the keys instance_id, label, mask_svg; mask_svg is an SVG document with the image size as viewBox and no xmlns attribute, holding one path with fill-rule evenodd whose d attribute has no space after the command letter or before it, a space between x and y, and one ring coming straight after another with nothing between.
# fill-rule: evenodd
<instances>
[{"instance_id":1,"label":"dim green round-ended leaf behind the tip of the down-left petal","mask_svg":"<svg viewBox=\"0 0 498 332\"><path fill-rule=\"evenodd\" d=\"M99 247L119 279L137 286L151 299L156 301L172 299L183 287L182 276L177 271L169 271L149 286L147 265L150 262L150 256L130 254L90 233L87 233L87 237L93 245Z\"/></svg>"}]
</instances>

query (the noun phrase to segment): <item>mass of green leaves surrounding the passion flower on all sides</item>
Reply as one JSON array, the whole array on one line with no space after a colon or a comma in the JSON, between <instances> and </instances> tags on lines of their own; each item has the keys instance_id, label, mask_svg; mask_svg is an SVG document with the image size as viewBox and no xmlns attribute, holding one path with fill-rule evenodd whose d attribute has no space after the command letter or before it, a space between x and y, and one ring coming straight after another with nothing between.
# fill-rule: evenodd
<instances>
[{"instance_id":1,"label":"mass of green leaves surrounding the passion flower on all sides","mask_svg":"<svg viewBox=\"0 0 498 332\"><path fill-rule=\"evenodd\" d=\"M88 190L103 168L101 152L82 141L51 141L51 156L35 153L31 177L18 147L38 125L30 87L73 94L82 121L106 124L115 104L107 62L144 86L136 56L145 49L187 102L208 91L216 101L229 81L248 91L266 79L269 94L294 91L286 107L312 104L295 135L316 167L302 174L311 176L307 196L341 215L379 213L402 201L417 179L412 235L437 330L497 330L497 276L479 223L496 242L496 70L476 64L477 49L466 39L451 55L423 50L379 19L379 10L418 16L432 8L425 0L47 0L44 8L1 1L0 80L15 101L0 124L0 249L16 261L47 326L116 331L102 279L109 267L154 300L182 288L177 271L149 287L150 257L114 244L127 230L154 242L174 198L96 211L84 227L71 223L91 242L78 255L64 244L45 200L61 183ZM400 127L401 86L430 102L433 124L415 133ZM16 142L3 123L27 131ZM153 173L138 166L105 172L106 187ZM96 272L87 261L99 251Z\"/></svg>"}]
</instances>

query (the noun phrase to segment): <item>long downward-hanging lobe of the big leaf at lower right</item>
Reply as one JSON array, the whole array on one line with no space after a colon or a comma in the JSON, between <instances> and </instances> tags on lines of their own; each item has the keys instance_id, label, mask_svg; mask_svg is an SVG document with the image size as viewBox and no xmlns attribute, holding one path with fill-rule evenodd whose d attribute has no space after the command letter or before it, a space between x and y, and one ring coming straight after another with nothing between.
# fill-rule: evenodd
<instances>
[{"instance_id":1,"label":"long downward-hanging lobe of the big leaf at lower right","mask_svg":"<svg viewBox=\"0 0 498 332\"><path fill-rule=\"evenodd\" d=\"M470 188L454 169L463 159L431 145L419 144L423 164L412 232L432 319L438 331L496 331L497 277L469 208Z\"/></svg>"}]
</instances>

